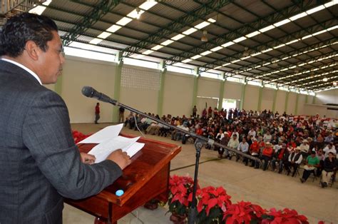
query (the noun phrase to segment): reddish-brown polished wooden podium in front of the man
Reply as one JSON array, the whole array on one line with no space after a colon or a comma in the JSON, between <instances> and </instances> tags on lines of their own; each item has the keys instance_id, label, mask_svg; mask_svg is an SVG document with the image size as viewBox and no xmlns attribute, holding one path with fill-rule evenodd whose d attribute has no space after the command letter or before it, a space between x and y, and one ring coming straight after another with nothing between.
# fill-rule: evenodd
<instances>
[{"instance_id":1,"label":"reddish-brown polished wooden podium in front of the man","mask_svg":"<svg viewBox=\"0 0 338 224\"><path fill-rule=\"evenodd\" d=\"M121 134L128 138L135 136ZM145 146L131 158L131 164L113 185L98 195L82 200L66 199L65 202L90 213L108 223L116 223L124 215L144 205L149 200L168 200L170 161L180 152L181 147L147 138L140 138ZM80 144L81 152L87 153L96 144ZM121 197L116 190L123 190Z\"/></svg>"}]
</instances>

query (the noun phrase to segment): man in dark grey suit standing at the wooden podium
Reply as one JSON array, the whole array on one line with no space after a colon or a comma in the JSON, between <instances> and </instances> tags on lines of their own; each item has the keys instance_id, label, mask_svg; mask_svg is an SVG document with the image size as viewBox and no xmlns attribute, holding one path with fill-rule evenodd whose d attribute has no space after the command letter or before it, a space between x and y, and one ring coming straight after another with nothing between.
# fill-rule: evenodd
<instances>
[{"instance_id":1,"label":"man in dark grey suit standing at the wooden podium","mask_svg":"<svg viewBox=\"0 0 338 224\"><path fill-rule=\"evenodd\" d=\"M0 36L0 223L62 223L63 197L111 185L130 164L121 150L92 165L74 144L66 104L41 84L65 61L56 24L21 14Z\"/></svg>"}]
</instances>

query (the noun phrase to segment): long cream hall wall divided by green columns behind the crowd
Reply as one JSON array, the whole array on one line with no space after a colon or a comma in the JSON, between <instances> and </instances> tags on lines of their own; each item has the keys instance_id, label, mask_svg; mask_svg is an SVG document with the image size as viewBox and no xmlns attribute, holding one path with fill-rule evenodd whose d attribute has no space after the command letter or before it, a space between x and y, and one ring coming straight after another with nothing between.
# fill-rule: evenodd
<instances>
[{"instance_id":1,"label":"long cream hall wall divided by green columns behind the crowd","mask_svg":"<svg viewBox=\"0 0 338 224\"><path fill-rule=\"evenodd\" d=\"M141 78L141 86L126 86L121 83L120 102L127 106L132 106L139 111L157 113L158 108L158 83L152 83L150 79L158 78L160 71L138 66L123 65L123 68L134 69L135 77ZM113 98L115 82L116 63L96 61L86 58L66 56L66 63L63 66L61 81L61 96L66 102L71 118L71 123L92 123L94 119L94 107L96 100L86 98L81 94L83 86L93 86L96 90L106 93ZM148 78L148 79L147 79ZM145 79L145 80L143 80ZM158 79L157 79L158 80ZM150 86L147 83L150 81ZM193 83L191 75L168 71L165 74L163 89L163 114L173 116L189 116L193 108ZM210 78L198 79L198 96L208 96L218 98L222 81ZM47 88L55 90L55 85L48 85ZM257 110L259 98L259 86L246 86L243 108L246 110ZM277 91L275 110L280 114L285 110L285 91ZM242 94L242 84L225 81L223 98L240 100ZM287 113L295 113L295 93L289 93L287 102ZM272 109L274 90L269 88L262 89L262 110ZM316 104L338 103L338 89L317 93ZM307 103L312 103L312 96L307 97ZM210 101L205 98L198 98L198 113L201 113L205 102L208 106L215 107L217 100ZM307 106L305 96L299 94L298 114L316 114L328 117L337 117L336 111ZM128 113L128 111L126 111ZM113 118L113 106L108 103L101 103L101 122L111 122Z\"/></svg>"}]
</instances>

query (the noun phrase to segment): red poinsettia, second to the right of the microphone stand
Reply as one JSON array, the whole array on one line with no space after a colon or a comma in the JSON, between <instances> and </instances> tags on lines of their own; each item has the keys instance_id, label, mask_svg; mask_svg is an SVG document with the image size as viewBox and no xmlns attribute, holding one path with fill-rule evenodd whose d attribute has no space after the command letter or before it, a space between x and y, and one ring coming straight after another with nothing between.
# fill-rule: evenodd
<instances>
[{"instance_id":1,"label":"red poinsettia, second to the right of the microphone stand","mask_svg":"<svg viewBox=\"0 0 338 224\"><path fill-rule=\"evenodd\" d=\"M266 210L250 202L240 201L230 205L223 214L225 224L261 223Z\"/></svg>"}]
</instances>

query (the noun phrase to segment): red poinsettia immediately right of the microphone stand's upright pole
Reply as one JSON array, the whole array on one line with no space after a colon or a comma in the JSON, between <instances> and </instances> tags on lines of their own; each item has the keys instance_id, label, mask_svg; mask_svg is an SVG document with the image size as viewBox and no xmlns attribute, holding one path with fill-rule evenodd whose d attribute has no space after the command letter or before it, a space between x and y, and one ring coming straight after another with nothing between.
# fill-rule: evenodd
<instances>
[{"instance_id":1,"label":"red poinsettia immediately right of the microphone stand's upright pole","mask_svg":"<svg viewBox=\"0 0 338 224\"><path fill-rule=\"evenodd\" d=\"M227 195L226 190L222 187L208 186L198 190L196 195L198 223L221 223L223 213L231 205L231 197Z\"/></svg>"}]
</instances>

